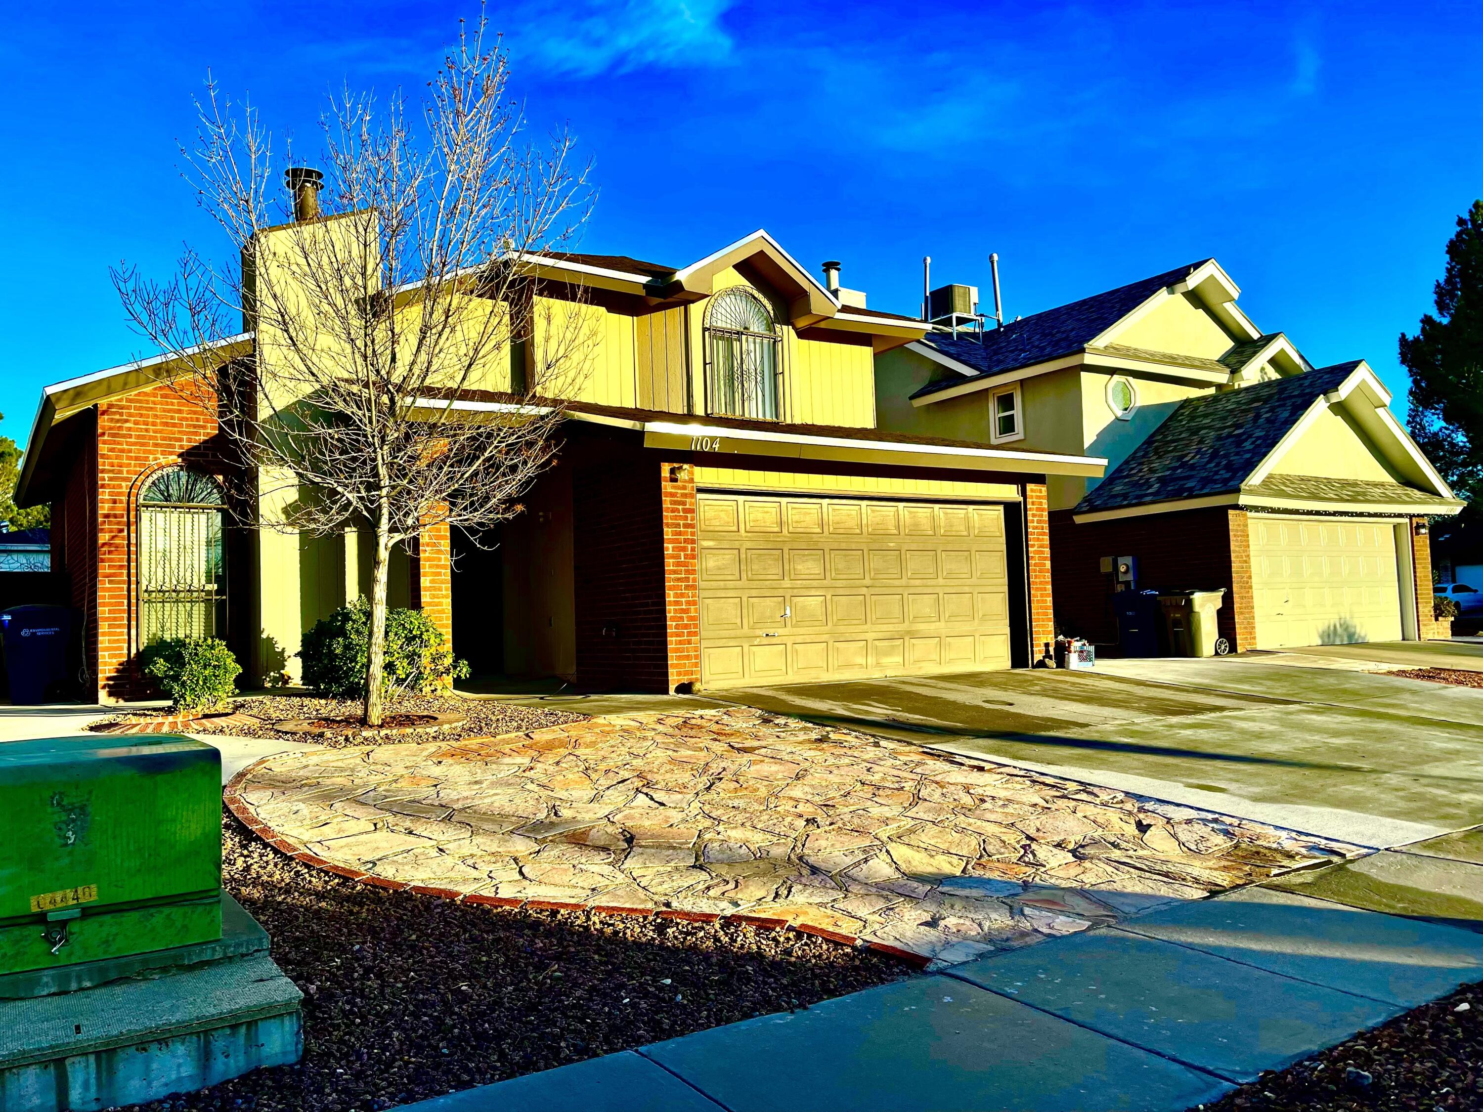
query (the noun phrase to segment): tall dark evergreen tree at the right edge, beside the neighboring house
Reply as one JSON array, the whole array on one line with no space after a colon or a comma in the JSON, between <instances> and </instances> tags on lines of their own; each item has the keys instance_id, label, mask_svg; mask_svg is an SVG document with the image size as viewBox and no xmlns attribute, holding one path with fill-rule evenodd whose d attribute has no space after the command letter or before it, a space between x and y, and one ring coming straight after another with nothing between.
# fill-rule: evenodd
<instances>
[{"instance_id":1,"label":"tall dark evergreen tree at the right edge, beside the neighboring house","mask_svg":"<svg viewBox=\"0 0 1483 1112\"><path fill-rule=\"evenodd\" d=\"M1410 372L1412 437L1468 507L1443 534L1476 534L1483 517L1483 200L1458 216L1447 243L1447 267L1434 291L1437 316L1421 319L1416 335L1400 337L1400 362Z\"/></svg>"}]
</instances>

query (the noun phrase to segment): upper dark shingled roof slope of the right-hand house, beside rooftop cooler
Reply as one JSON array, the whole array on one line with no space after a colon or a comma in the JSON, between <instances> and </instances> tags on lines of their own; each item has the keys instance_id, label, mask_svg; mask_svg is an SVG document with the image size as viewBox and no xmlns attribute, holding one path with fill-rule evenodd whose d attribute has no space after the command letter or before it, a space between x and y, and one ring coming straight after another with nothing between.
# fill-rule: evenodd
<instances>
[{"instance_id":1,"label":"upper dark shingled roof slope of the right-hand house, beside rooftop cooler","mask_svg":"<svg viewBox=\"0 0 1483 1112\"><path fill-rule=\"evenodd\" d=\"M1011 320L1004 328L994 328L977 338L954 338L951 335L927 335L921 342L930 344L945 356L955 359L965 366L971 366L979 375L995 375L1004 371L1016 371L1022 366L1044 363L1048 359L1069 356L1112 325L1126 317L1134 308L1161 289L1183 282L1189 274L1210 262L1200 259L1186 267L1154 274L1140 282L1133 282L1103 294L1093 294L1081 301L1068 305L1047 308L1044 313L1034 313L1019 320ZM974 375L974 377L979 377ZM943 380L928 383L912 397L922 397L948 387L961 385L964 380Z\"/></svg>"}]
</instances>

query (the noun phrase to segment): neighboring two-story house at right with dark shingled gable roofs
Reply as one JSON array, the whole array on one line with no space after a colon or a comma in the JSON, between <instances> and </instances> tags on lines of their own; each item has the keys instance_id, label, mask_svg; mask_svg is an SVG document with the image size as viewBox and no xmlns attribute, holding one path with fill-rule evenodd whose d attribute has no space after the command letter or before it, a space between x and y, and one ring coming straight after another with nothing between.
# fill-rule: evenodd
<instances>
[{"instance_id":1,"label":"neighboring two-story house at right with dark shingled gable roofs","mask_svg":"<svg viewBox=\"0 0 1483 1112\"><path fill-rule=\"evenodd\" d=\"M1117 642L1136 586L1223 589L1232 651L1433 635L1428 517L1462 503L1363 362L1314 369L1215 259L876 360L881 424L1090 454L1050 479L1062 632Z\"/></svg>"}]
</instances>

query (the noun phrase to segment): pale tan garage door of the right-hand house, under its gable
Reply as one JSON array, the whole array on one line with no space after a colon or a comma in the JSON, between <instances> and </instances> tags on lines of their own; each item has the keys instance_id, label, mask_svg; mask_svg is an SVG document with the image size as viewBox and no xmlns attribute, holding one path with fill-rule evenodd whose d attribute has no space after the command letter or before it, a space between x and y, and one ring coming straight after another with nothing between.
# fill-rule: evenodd
<instances>
[{"instance_id":1,"label":"pale tan garage door of the right-hand house, under its gable","mask_svg":"<svg viewBox=\"0 0 1483 1112\"><path fill-rule=\"evenodd\" d=\"M1250 516L1256 646L1400 641L1388 522Z\"/></svg>"}]
</instances>

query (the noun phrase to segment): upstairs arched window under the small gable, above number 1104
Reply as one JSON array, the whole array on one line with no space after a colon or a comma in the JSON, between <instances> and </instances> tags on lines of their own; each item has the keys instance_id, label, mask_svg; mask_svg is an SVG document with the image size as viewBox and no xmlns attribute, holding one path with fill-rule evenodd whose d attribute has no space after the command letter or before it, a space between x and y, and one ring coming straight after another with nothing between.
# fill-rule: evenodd
<instances>
[{"instance_id":1,"label":"upstairs arched window under the small gable, above number 1104","mask_svg":"<svg viewBox=\"0 0 1483 1112\"><path fill-rule=\"evenodd\" d=\"M706 310L706 408L718 417L777 421L782 338L773 313L749 289L733 286Z\"/></svg>"}]
</instances>

